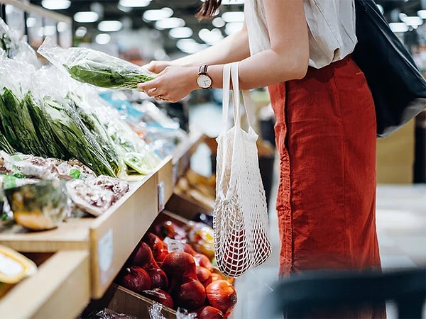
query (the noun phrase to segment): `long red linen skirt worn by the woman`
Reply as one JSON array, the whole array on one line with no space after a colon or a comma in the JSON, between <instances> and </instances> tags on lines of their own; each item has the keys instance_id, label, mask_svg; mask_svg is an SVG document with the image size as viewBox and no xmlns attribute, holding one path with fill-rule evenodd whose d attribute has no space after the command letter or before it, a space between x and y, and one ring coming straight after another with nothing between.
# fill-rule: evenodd
<instances>
[{"instance_id":1,"label":"long red linen skirt worn by the woman","mask_svg":"<svg viewBox=\"0 0 426 319\"><path fill-rule=\"evenodd\" d=\"M376 115L346 57L268 87L280 155L280 274L379 268Z\"/></svg>"}]
</instances>

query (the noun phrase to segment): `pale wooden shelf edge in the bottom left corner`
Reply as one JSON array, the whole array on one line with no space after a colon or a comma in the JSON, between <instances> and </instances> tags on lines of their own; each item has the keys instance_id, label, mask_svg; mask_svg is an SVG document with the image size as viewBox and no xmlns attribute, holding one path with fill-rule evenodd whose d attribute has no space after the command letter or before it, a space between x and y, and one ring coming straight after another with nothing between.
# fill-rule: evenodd
<instances>
[{"instance_id":1,"label":"pale wooden shelf edge in the bottom left corner","mask_svg":"<svg viewBox=\"0 0 426 319\"><path fill-rule=\"evenodd\" d=\"M0 316L77 318L89 300L88 252L59 251L38 265L33 276L23 279L0 298Z\"/></svg>"}]
</instances>

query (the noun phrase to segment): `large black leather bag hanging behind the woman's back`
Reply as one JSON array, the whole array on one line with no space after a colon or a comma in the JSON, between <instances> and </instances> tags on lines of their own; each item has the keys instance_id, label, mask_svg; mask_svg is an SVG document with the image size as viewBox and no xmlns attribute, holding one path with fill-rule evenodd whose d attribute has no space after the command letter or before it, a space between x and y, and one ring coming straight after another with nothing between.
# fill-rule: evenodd
<instances>
[{"instance_id":1,"label":"large black leather bag hanging behind the woman's back","mask_svg":"<svg viewBox=\"0 0 426 319\"><path fill-rule=\"evenodd\" d=\"M376 106L377 135L384 138L426 108L426 79L373 0L355 0L352 57L364 72Z\"/></svg>"}]
</instances>

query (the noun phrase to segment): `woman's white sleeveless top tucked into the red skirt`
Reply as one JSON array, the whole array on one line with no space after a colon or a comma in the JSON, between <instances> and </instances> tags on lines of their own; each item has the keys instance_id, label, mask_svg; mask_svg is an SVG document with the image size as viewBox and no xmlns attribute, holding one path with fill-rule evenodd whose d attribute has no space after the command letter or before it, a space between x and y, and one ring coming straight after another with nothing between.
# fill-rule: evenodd
<instances>
[{"instance_id":1,"label":"woman's white sleeveless top tucked into the red skirt","mask_svg":"<svg viewBox=\"0 0 426 319\"><path fill-rule=\"evenodd\" d=\"M303 0L309 29L309 65L317 69L342 60L354 50L354 0ZM271 47L263 0L244 3L251 55Z\"/></svg>"}]
</instances>

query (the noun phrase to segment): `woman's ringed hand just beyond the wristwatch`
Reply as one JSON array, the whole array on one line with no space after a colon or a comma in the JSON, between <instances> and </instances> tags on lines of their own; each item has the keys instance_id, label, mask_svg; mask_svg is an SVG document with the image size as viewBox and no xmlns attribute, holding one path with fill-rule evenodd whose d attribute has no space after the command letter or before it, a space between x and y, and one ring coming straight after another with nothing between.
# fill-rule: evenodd
<instances>
[{"instance_id":1,"label":"woman's ringed hand just beyond the wristwatch","mask_svg":"<svg viewBox=\"0 0 426 319\"><path fill-rule=\"evenodd\" d=\"M138 90L144 91L158 101L178 102L191 91L198 89L197 67L168 66L155 79L138 83Z\"/></svg>"}]
</instances>

